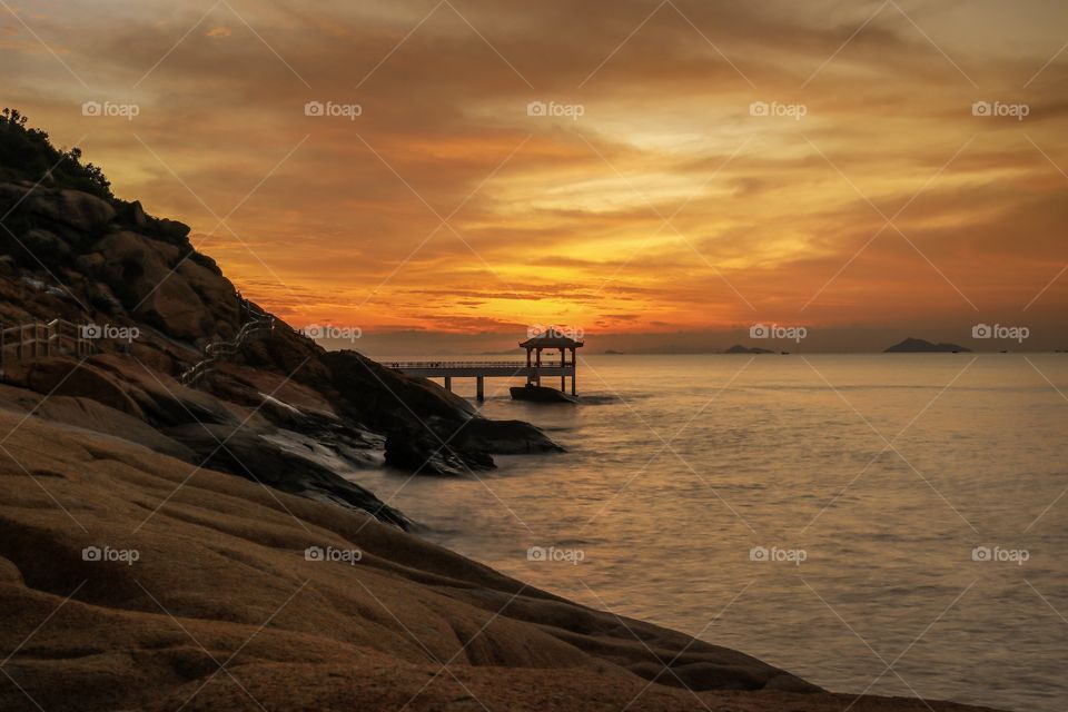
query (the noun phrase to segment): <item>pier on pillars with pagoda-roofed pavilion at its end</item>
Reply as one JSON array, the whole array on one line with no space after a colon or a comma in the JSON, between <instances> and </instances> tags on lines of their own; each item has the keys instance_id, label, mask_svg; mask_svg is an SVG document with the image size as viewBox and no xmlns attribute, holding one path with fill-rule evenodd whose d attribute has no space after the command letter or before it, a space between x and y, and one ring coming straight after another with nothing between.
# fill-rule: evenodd
<instances>
[{"instance_id":1,"label":"pier on pillars with pagoda-roofed pavilion at its end","mask_svg":"<svg viewBox=\"0 0 1068 712\"><path fill-rule=\"evenodd\" d=\"M383 366L394 368L408 376L442 378L446 390L453 389L453 378L474 378L475 397L486 399L486 378L526 378L526 383L540 386L543 377L560 377L560 389L566 387L571 377L571 395L575 393L575 372L577 370L576 350L582 342L558 332L546 332L520 344L526 349L526 360L403 360L385 362ZM543 350L558 350L542 358ZM571 358L567 358L568 353Z\"/></svg>"}]
</instances>

